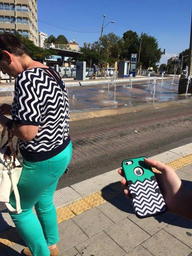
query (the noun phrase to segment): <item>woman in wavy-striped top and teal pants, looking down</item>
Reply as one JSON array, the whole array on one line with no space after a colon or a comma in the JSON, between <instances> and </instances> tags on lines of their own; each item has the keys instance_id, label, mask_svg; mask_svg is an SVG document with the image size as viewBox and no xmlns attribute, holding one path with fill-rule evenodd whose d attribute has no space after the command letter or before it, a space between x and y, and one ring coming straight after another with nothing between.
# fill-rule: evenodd
<instances>
[{"instance_id":1,"label":"woman in wavy-striped top and teal pants, looking down","mask_svg":"<svg viewBox=\"0 0 192 256\"><path fill-rule=\"evenodd\" d=\"M56 256L59 233L53 196L72 157L67 88L56 71L32 60L12 33L0 34L0 69L15 78L15 97L12 106L0 107L0 124L8 123L4 114L11 111L12 134L19 138L23 156L17 185L22 212L10 215L28 246L25 255ZM13 193L10 203L15 207Z\"/></svg>"}]
</instances>

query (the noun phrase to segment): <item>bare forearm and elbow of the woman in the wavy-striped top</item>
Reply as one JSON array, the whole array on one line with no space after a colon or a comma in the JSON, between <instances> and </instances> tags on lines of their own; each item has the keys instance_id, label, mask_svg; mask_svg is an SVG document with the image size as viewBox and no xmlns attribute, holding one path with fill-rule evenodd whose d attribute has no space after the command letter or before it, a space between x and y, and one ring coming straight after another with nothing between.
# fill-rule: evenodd
<instances>
[{"instance_id":1,"label":"bare forearm and elbow of the woman in the wavy-striped top","mask_svg":"<svg viewBox=\"0 0 192 256\"><path fill-rule=\"evenodd\" d=\"M4 127L6 123L11 120L10 118L0 114L0 124ZM39 126L25 125L25 124L13 124L12 134L23 141L32 140L38 133Z\"/></svg>"}]
</instances>

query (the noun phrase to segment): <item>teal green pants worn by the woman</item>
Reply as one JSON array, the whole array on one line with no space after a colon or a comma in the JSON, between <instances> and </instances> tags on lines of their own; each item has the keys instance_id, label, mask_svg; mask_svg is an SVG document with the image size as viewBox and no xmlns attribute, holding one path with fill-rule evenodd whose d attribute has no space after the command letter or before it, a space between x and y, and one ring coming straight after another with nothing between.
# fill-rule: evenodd
<instances>
[{"instance_id":1,"label":"teal green pants worn by the woman","mask_svg":"<svg viewBox=\"0 0 192 256\"><path fill-rule=\"evenodd\" d=\"M17 231L33 256L49 256L49 245L58 243L57 214L53 203L59 178L72 157L72 143L58 155L41 162L24 160L18 183L22 212L10 213ZM15 197L10 203L15 207ZM32 211L33 206L37 217Z\"/></svg>"}]
</instances>

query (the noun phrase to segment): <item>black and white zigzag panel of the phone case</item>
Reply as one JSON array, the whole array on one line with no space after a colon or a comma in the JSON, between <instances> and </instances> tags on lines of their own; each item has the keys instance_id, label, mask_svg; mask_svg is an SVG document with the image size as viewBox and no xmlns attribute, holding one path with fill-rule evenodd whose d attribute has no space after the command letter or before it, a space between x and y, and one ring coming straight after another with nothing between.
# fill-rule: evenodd
<instances>
[{"instance_id":1,"label":"black and white zigzag panel of the phone case","mask_svg":"<svg viewBox=\"0 0 192 256\"><path fill-rule=\"evenodd\" d=\"M165 201L156 180L136 181L129 185L135 212L140 217L149 216L165 211Z\"/></svg>"}]
</instances>

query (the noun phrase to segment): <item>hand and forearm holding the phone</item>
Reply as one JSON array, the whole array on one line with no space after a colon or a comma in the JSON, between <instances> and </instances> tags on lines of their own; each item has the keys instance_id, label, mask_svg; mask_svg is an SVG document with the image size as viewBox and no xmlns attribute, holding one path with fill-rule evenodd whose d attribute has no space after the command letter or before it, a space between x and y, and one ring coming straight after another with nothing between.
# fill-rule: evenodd
<instances>
[{"instance_id":1,"label":"hand and forearm holding the phone","mask_svg":"<svg viewBox=\"0 0 192 256\"><path fill-rule=\"evenodd\" d=\"M167 211L192 221L192 193L184 187L175 171L160 161L151 159L145 159L144 161L148 166L161 171L161 173L154 172L154 174L164 197ZM122 169L119 169L118 173L123 176L121 183L125 187L124 193L130 198L127 189L128 184Z\"/></svg>"}]
</instances>

